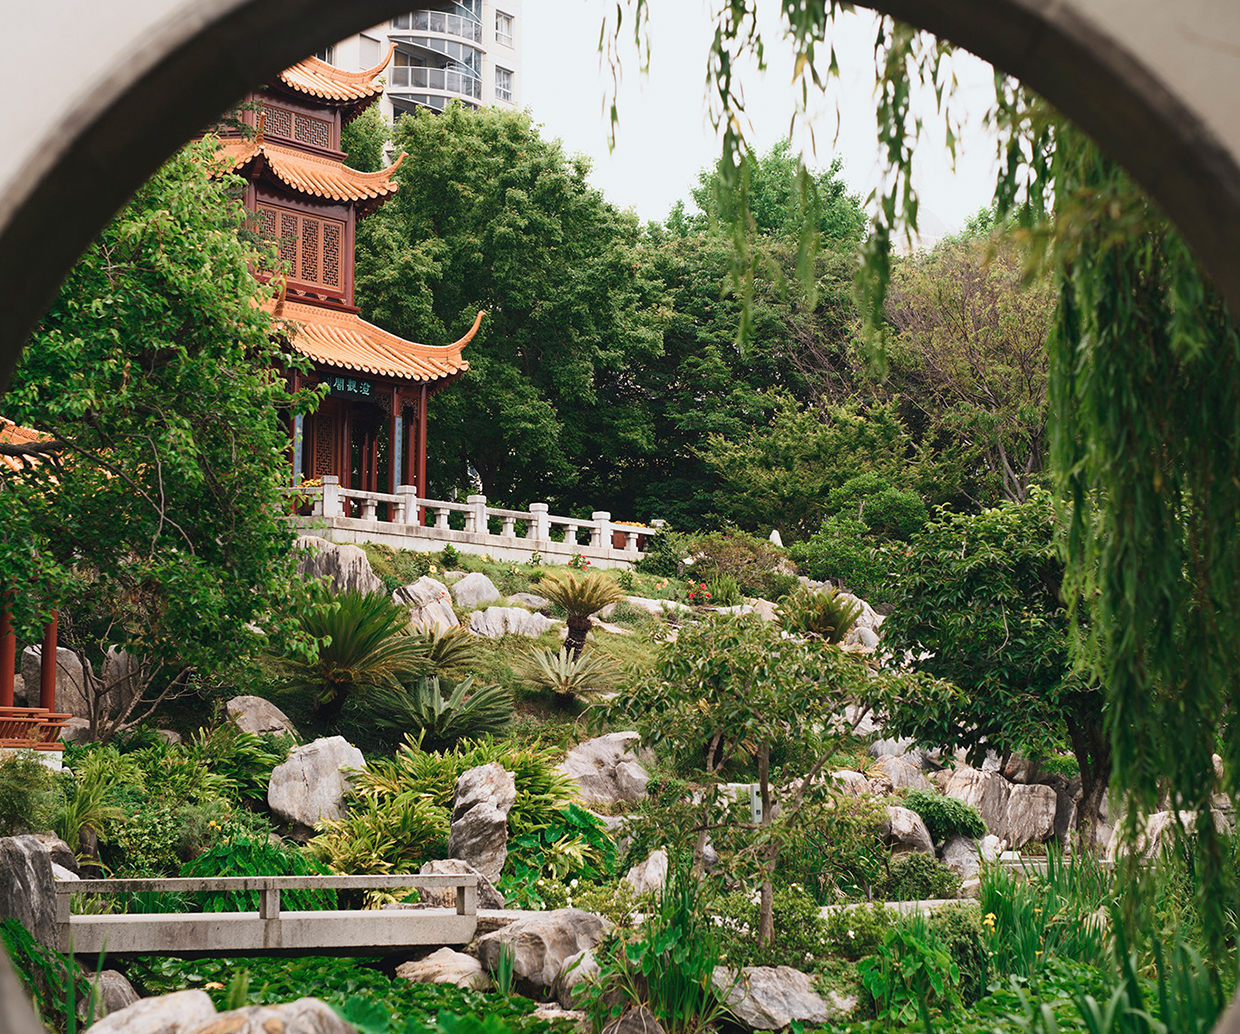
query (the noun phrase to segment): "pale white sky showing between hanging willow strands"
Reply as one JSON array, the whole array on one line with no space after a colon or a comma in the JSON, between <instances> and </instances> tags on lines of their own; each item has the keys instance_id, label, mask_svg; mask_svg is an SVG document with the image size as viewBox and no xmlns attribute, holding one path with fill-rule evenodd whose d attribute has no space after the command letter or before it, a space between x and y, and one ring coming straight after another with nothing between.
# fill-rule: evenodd
<instances>
[{"instance_id":1,"label":"pale white sky showing between hanging willow strands","mask_svg":"<svg viewBox=\"0 0 1240 1034\"><path fill-rule=\"evenodd\" d=\"M651 0L650 71L624 51L618 94L620 124L608 149L605 95L611 73L600 63L599 27L614 0L526 0L522 25L520 102L546 136L559 138L570 154L593 160L591 182L613 203L642 219L662 219L678 200L688 203L697 174L719 155L706 94L706 61L713 36L707 0ZM766 40L765 72L740 76L756 150L789 135L800 89L791 84L791 47L780 43L779 5L764 0L760 21ZM843 156L842 176L864 200L882 165L874 123L874 16L842 16L835 36L841 78L827 94L811 98L794 136L811 167ZM957 118L963 118L955 167L944 146L942 117L926 88L914 100L925 131L914 152L914 185L921 202L923 243L960 229L990 203L994 186L994 138L981 124L993 100L991 66L968 53L951 58L957 81ZM812 141L811 141L812 131Z\"/></svg>"}]
</instances>

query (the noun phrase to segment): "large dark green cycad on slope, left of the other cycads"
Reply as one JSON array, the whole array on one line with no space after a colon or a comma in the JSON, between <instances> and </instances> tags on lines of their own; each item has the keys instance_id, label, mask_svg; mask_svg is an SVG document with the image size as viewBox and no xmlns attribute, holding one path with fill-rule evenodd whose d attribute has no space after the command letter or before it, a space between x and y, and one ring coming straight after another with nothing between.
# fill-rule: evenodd
<instances>
[{"instance_id":1,"label":"large dark green cycad on slope, left of the other cycads","mask_svg":"<svg viewBox=\"0 0 1240 1034\"><path fill-rule=\"evenodd\" d=\"M319 717L334 720L350 697L399 686L429 662L425 640L409 635L408 611L386 596L348 590L303 614L301 630L319 640L315 661L289 661L284 689L306 691Z\"/></svg>"}]
</instances>

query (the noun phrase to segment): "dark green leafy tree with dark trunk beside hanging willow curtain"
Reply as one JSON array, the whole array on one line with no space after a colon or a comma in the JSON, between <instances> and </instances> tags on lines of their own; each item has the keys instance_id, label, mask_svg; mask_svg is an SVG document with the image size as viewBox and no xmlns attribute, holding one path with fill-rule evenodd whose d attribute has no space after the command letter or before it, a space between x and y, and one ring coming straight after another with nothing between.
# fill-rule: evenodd
<instances>
[{"instance_id":1,"label":"dark green leafy tree with dark trunk beside hanging willow curtain","mask_svg":"<svg viewBox=\"0 0 1240 1034\"><path fill-rule=\"evenodd\" d=\"M944 512L914 537L895 573L883 625L894 656L962 692L906 698L890 719L919 743L1044 754L1069 741L1080 766L1078 828L1091 843L1111 777L1111 743L1097 684L1074 669L1064 564L1050 495L981 513Z\"/></svg>"}]
</instances>

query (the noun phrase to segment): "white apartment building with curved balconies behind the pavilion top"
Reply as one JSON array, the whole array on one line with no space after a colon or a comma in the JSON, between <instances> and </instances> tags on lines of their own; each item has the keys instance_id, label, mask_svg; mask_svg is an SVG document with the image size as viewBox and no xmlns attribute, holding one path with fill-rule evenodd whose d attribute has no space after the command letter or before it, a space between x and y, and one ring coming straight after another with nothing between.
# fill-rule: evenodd
<instances>
[{"instance_id":1,"label":"white apartment building with curved balconies behind the pavilion top","mask_svg":"<svg viewBox=\"0 0 1240 1034\"><path fill-rule=\"evenodd\" d=\"M521 103L522 0L432 0L342 40L319 57L350 72L383 69L381 110L396 122L414 108L441 112Z\"/></svg>"}]
</instances>

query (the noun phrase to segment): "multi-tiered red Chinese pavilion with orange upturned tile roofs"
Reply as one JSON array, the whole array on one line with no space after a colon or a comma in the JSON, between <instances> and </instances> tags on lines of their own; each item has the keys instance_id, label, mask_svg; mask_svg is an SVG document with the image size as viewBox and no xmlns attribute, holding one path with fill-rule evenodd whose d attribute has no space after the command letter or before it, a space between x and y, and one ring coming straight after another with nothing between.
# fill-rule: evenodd
<instances>
[{"instance_id":1,"label":"multi-tiered red Chinese pavilion with orange upturned tile roofs","mask_svg":"<svg viewBox=\"0 0 1240 1034\"><path fill-rule=\"evenodd\" d=\"M345 165L340 133L378 99L388 57L365 72L343 72L316 57L294 64L252 94L243 118L253 138L229 136L223 154L248 181L246 206L277 239L284 281L272 303L289 343L314 363L293 387L327 384L316 413L296 417L293 482L336 475L362 491L417 485L427 492L427 404L469 363L470 331L451 345L417 345L366 322L353 306L357 221L396 193L405 155L378 172ZM272 273L260 274L264 276Z\"/></svg>"}]
</instances>

